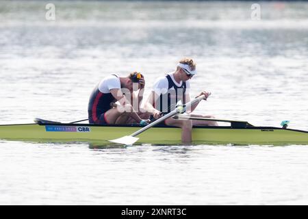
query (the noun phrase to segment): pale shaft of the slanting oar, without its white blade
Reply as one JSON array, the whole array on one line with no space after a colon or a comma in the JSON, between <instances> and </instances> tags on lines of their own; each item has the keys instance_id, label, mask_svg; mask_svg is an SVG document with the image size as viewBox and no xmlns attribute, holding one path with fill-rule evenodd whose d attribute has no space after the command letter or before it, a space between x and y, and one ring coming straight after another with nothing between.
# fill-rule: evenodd
<instances>
[{"instance_id":1,"label":"pale shaft of the slanting oar, without its white blade","mask_svg":"<svg viewBox=\"0 0 308 219\"><path fill-rule=\"evenodd\" d=\"M165 116L162 116L161 118L155 120L153 123L150 123L149 125L146 125L142 129L139 129L138 131L131 134L132 137L139 135L143 131L146 131L146 129L149 129L153 127L154 125L157 125L158 123L161 123L162 121L166 120L167 118L170 118L171 116L174 116L175 114L183 114L188 107L190 107L192 104L197 103L205 99L205 95L198 96L196 99L190 101L189 103L186 103L183 106L178 106L175 108L175 110L172 110L170 113L166 114Z\"/></svg>"}]
</instances>

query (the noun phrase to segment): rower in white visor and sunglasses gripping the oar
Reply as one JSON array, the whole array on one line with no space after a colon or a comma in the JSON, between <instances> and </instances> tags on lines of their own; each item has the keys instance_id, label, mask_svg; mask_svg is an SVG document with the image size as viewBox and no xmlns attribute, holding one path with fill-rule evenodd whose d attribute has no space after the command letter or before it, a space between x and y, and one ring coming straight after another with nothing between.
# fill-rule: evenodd
<instances>
[{"instance_id":1,"label":"rower in white visor and sunglasses gripping the oar","mask_svg":"<svg viewBox=\"0 0 308 219\"><path fill-rule=\"evenodd\" d=\"M154 118L159 118L162 113L168 113L175 109L175 103L181 101L185 104L190 101L190 79L196 75L196 64L190 58L183 58L177 64L174 72L159 77L153 86L153 90L149 95L145 107ZM205 99L211 93L203 91L198 96L205 95ZM196 98L198 97L196 96ZM199 102L194 103L186 112L189 114L194 111ZM164 109L168 109L164 112ZM214 116L193 115L202 118L214 118ZM175 120L168 118L164 121L165 125L181 127L183 143L192 142L192 126L193 125L210 125L217 126L218 123L213 120Z\"/></svg>"}]
</instances>

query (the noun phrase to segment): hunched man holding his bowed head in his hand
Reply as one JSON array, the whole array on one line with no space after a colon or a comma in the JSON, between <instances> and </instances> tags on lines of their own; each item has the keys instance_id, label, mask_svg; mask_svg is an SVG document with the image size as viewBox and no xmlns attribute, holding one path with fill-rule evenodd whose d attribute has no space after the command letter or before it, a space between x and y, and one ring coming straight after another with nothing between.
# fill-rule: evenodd
<instances>
[{"instance_id":1,"label":"hunched man holding his bowed head in his hand","mask_svg":"<svg viewBox=\"0 0 308 219\"><path fill-rule=\"evenodd\" d=\"M144 77L141 73L131 73L127 77L110 75L94 88L88 103L89 123L94 124L131 124L147 125L149 114L140 112L140 102L144 92ZM139 90L138 105L134 99L135 90ZM116 104L118 101L120 104ZM144 118L144 119L142 119Z\"/></svg>"}]
</instances>

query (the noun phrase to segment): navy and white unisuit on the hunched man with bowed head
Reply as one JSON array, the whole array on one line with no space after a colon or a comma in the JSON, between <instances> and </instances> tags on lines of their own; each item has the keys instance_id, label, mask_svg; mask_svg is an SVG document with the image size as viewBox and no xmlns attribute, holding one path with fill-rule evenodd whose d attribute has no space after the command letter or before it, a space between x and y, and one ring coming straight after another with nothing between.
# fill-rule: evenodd
<instances>
[{"instance_id":1,"label":"navy and white unisuit on the hunched man with bowed head","mask_svg":"<svg viewBox=\"0 0 308 219\"><path fill-rule=\"evenodd\" d=\"M116 100L110 90L120 88L121 84L118 75L110 75L101 80L90 96L88 104L89 123L108 123L105 112L110 110L110 103Z\"/></svg>"}]
</instances>

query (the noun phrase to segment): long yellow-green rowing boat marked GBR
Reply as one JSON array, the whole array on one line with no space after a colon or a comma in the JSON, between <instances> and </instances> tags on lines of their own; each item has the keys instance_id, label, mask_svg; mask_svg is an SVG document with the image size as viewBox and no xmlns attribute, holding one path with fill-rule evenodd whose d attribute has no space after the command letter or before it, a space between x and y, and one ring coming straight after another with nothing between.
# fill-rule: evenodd
<instances>
[{"instance_id":1,"label":"long yellow-green rowing boat marked GBR","mask_svg":"<svg viewBox=\"0 0 308 219\"><path fill-rule=\"evenodd\" d=\"M185 116L174 118L194 119L185 118ZM214 120L229 122L231 125L193 127L192 144L308 144L308 131L280 127L255 127L246 121ZM0 139L29 142L90 142L110 145L112 143L108 140L129 135L138 129L140 129L138 125L72 124L38 119L36 123L31 124L0 125ZM155 125L140 134L138 143L181 144L181 129L162 124Z\"/></svg>"}]
</instances>

